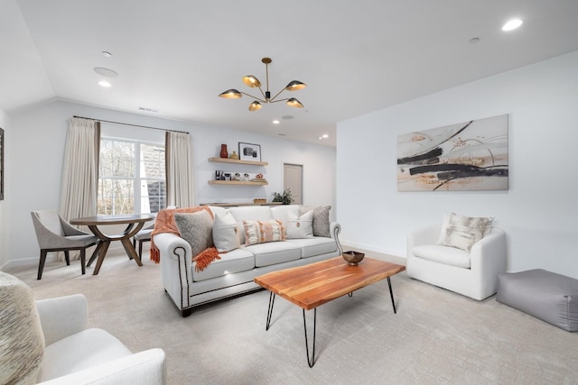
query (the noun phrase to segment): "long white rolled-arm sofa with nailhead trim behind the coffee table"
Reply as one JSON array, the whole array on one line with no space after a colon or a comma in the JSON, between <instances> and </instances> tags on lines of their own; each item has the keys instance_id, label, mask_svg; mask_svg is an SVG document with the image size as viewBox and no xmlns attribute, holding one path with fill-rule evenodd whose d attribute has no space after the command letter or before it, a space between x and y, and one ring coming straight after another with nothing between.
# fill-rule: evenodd
<instances>
[{"instance_id":1,"label":"long white rolled-arm sofa with nailhead trim behind the coffee table","mask_svg":"<svg viewBox=\"0 0 578 385\"><path fill-rule=\"evenodd\" d=\"M212 261L202 271L195 270L196 262L192 262L194 255L191 255L190 243L175 234L154 234L154 244L160 251L163 287L182 312L182 316L189 316L194 307L202 304L260 289L253 281L256 276L340 255L340 225L329 221L329 237L294 238L245 246L243 220L280 219L286 224L288 215L299 215L303 212L303 207L298 205L230 208L210 206L210 210L214 215L224 215L228 210L234 216L241 246L219 253L220 259ZM327 212L325 215L328 217Z\"/></svg>"}]
</instances>

